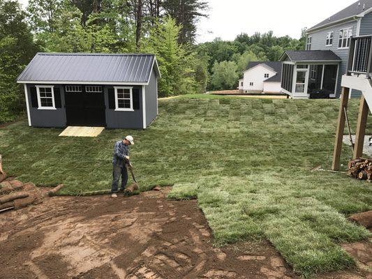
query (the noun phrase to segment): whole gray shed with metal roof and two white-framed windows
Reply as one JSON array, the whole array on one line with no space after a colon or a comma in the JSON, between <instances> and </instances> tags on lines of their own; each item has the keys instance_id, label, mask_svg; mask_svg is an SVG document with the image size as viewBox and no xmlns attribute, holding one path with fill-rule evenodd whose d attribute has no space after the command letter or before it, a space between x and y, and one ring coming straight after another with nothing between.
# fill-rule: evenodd
<instances>
[{"instance_id":1,"label":"whole gray shed with metal roof and two white-framed windows","mask_svg":"<svg viewBox=\"0 0 372 279\"><path fill-rule=\"evenodd\" d=\"M158 114L153 54L38 53L17 78L29 126L144 129Z\"/></svg>"}]
</instances>

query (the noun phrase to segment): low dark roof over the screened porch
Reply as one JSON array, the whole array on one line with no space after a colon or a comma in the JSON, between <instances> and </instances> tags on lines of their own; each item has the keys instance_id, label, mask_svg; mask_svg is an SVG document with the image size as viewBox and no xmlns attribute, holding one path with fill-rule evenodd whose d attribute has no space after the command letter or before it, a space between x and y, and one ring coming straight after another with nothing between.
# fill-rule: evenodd
<instances>
[{"instance_id":1,"label":"low dark roof over the screened porch","mask_svg":"<svg viewBox=\"0 0 372 279\"><path fill-rule=\"evenodd\" d=\"M341 61L332 50L286 50L281 56L288 56L292 62L311 62L311 61Z\"/></svg>"}]
</instances>

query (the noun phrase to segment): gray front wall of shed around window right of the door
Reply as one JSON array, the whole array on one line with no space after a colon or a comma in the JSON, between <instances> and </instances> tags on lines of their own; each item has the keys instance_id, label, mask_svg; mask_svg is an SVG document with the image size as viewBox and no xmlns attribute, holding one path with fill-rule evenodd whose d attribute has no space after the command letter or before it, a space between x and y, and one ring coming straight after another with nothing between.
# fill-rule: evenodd
<instances>
[{"instance_id":1,"label":"gray front wall of shed around window right of the door","mask_svg":"<svg viewBox=\"0 0 372 279\"><path fill-rule=\"evenodd\" d=\"M142 129L142 86L133 86L133 89L140 90L140 110L135 110L134 112L116 112L115 110L110 110L108 103L109 88L114 88L114 86L105 86L106 127L112 129Z\"/></svg>"}]
</instances>

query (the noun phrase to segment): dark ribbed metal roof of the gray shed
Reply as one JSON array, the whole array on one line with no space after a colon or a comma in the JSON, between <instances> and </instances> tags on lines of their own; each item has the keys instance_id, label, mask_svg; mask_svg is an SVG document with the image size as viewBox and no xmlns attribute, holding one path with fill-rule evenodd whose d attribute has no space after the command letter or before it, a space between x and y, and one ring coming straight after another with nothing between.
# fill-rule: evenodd
<instances>
[{"instance_id":1,"label":"dark ribbed metal roof of the gray shed","mask_svg":"<svg viewBox=\"0 0 372 279\"><path fill-rule=\"evenodd\" d=\"M148 83L154 54L38 53L17 82Z\"/></svg>"}]
</instances>

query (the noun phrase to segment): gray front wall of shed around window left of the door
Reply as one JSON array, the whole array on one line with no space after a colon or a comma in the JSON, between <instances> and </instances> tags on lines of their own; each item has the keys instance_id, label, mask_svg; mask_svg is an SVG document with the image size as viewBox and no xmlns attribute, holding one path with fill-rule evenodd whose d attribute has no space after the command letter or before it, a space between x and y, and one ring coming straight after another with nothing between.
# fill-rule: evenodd
<instances>
[{"instance_id":1,"label":"gray front wall of shed around window left of the door","mask_svg":"<svg viewBox=\"0 0 372 279\"><path fill-rule=\"evenodd\" d=\"M42 84L38 84L42 85ZM31 126L33 127L47 127L47 128L64 128L66 127L66 111L64 86L55 85L54 88L59 87L61 91L61 108L57 110L38 110L37 107L32 107L30 88L35 87L34 84L27 84L27 98L29 99L29 110L31 117Z\"/></svg>"}]
</instances>

